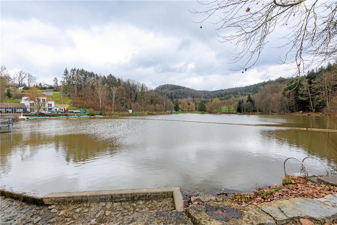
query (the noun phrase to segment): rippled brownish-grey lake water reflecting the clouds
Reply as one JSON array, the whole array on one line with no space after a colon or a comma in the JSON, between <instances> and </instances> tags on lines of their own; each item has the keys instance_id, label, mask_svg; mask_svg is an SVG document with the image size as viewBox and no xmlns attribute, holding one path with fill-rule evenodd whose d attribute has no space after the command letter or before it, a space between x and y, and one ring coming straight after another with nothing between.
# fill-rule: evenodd
<instances>
[{"instance_id":1,"label":"rippled brownish-grey lake water reflecting the clouds","mask_svg":"<svg viewBox=\"0 0 337 225\"><path fill-rule=\"evenodd\" d=\"M163 119L163 120L157 120ZM281 182L283 161L316 156L337 165L335 129L324 116L179 114L18 121L1 134L1 186L50 192L159 188L250 191ZM308 170L324 174L307 160ZM287 172L297 172L296 162Z\"/></svg>"}]
</instances>

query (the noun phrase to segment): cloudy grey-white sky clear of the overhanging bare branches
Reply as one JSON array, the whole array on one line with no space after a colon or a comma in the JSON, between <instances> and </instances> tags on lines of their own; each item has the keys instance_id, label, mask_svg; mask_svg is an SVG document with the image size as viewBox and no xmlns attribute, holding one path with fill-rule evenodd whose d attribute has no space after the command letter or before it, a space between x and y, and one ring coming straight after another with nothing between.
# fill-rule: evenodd
<instances>
[{"instance_id":1,"label":"cloudy grey-white sky clear of the overhanging bare branches","mask_svg":"<svg viewBox=\"0 0 337 225\"><path fill-rule=\"evenodd\" d=\"M150 88L245 86L293 74L267 45L244 74L231 71L232 44L195 24L196 1L1 1L1 65L53 84L65 67L134 79Z\"/></svg>"}]
</instances>

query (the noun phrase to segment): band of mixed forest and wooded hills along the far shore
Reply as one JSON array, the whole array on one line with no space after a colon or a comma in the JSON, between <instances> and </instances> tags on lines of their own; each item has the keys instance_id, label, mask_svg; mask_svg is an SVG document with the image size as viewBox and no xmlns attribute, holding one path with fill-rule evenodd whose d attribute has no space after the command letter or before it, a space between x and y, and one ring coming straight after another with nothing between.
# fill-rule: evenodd
<instances>
[{"instance_id":1,"label":"band of mixed forest and wooded hills along the far shore","mask_svg":"<svg viewBox=\"0 0 337 225\"><path fill-rule=\"evenodd\" d=\"M26 73L26 74L25 74ZM21 75L27 75L23 77ZM26 85L26 82L29 84ZM1 67L1 99L11 98L7 84L43 89L29 73L19 71L12 77ZM112 74L104 76L85 69L64 69L62 79L54 78L54 88L62 96L71 97L74 107L100 113L154 111L208 111L209 113L279 113L299 111L331 111L337 105L337 64L329 63L308 71L306 76L278 78L245 87L217 91L194 90L165 84L154 90L144 83L121 79ZM23 93L24 94L24 93ZM62 101L62 100L61 100Z\"/></svg>"}]
</instances>

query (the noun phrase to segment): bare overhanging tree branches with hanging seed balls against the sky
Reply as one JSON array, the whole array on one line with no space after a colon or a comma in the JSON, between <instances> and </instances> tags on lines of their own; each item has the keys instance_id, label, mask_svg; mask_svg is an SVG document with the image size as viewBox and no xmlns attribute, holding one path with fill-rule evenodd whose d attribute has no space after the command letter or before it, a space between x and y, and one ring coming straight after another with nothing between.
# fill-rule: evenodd
<instances>
[{"instance_id":1,"label":"bare overhanging tree branches with hanging seed balls against the sky","mask_svg":"<svg viewBox=\"0 0 337 225\"><path fill-rule=\"evenodd\" d=\"M289 63L303 75L310 66L337 58L337 2L318 0L222 0L201 3L205 10L193 10L216 25L220 42L235 43L234 62L246 70L255 64L273 31L288 32L273 39L277 48L287 48L281 63ZM220 32L225 29L225 34ZM237 70L240 70L237 69Z\"/></svg>"}]
</instances>

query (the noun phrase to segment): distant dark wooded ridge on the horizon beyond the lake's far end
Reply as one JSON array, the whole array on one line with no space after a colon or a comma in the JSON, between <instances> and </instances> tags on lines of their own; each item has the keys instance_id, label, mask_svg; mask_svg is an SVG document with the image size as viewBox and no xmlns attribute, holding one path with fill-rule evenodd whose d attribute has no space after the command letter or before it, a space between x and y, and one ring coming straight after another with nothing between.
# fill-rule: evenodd
<instances>
[{"instance_id":1,"label":"distant dark wooded ridge on the horizon beyond the lake's far end","mask_svg":"<svg viewBox=\"0 0 337 225\"><path fill-rule=\"evenodd\" d=\"M248 94L255 94L258 92L259 87L265 86L267 84L283 83L289 78L277 78L275 80L264 81L257 84L252 84L244 87L233 87L227 89L221 89L216 91L206 91L206 90L195 90L192 88L174 85L174 84L164 84L155 88L158 93L165 93L171 100L174 99L185 99L185 98L203 98L212 99L219 97L221 100L229 99L231 97L246 96Z\"/></svg>"}]
</instances>

